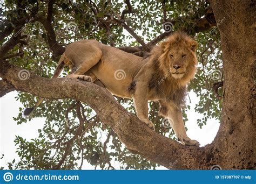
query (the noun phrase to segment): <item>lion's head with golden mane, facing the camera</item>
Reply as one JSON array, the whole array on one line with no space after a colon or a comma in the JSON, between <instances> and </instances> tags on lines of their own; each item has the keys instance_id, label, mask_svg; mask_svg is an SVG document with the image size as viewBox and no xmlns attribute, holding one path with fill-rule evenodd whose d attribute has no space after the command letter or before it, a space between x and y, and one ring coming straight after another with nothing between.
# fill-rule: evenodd
<instances>
[{"instance_id":1,"label":"lion's head with golden mane, facing the camera","mask_svg":"<svg viewBox=\"0 0 256 184\"><path fill-rule=\"evenodd\" d=\"M189 82L196 73L197 42L187 34L176 32L156 46L152 52L159 56L158 66L164 75L178 80L180 84Z\"/></svg>"}]
</instances>

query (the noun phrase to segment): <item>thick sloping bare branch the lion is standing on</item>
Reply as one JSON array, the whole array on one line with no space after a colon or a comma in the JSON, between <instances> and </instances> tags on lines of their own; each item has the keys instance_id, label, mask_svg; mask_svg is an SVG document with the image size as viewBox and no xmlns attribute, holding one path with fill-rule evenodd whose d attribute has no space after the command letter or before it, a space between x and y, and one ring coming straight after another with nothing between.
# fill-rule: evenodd
<instances>
[{"instance_id":1,"label":"thick sloping bare branch the lion is standing on","mask_svg":"<svg viewBox=\"0 0 256 184\"><path fill-rule=\"evenodd\" d=\"M96 84L66 78L46 79L33 73L28 80L22 81L17 75L21 68L5 61L0 62L0 68L0 77L10 81L16 90L44 98L73 98L86 103L97 112L102 122L117 133L129 150L153 162L167 168L173 162L177 162L176 168L179 169L210 167L210 160L204 159L210 157L207 156L211 152L210 146L184 146L175 140L158 135L136 116L127 112L114 100L109 91Z\"/></svg>"}]
</instances>

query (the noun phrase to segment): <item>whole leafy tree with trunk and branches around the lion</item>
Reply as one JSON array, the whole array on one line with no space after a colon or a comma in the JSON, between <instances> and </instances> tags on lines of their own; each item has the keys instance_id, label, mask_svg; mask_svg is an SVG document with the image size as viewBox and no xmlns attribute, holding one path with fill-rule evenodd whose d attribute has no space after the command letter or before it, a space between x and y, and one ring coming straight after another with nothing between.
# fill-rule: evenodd
<instances>
[{"instance_id":1,"label":"whole leafy tree with trunk and branches around the lion","mask_svg":"<svg viewBox=\"0 0 256 184\"><path fill-rule=\"evenodd\" d=\"M17 99L25 106L35 104L36 96L49 99L29 119L22 117L22 108L14 118L18 124L35 117L46 117L46 122L38 138L16 137L21 161L10 163L9 168L77 169L83 160L104 169L113 169L111 160L119 161L120 168L136 169L172 168L173 163L177 169L209 169L214 164L223 169L255 168L252 1L18 0L5 1L1 10L1 96L20 91ZM171 31L167 27L161 33L166 24ZM183 146L173 140L172 129L161 126L157 103L150 103L154 132L134 115L130 100L114 98L93 83L49 79L65 45L73 41L97 39L145 56L173 30L183 30L199 43L200 67L188 87L200 97L195 110L204 118L198 119L198 125L206 124L208 118L221 122L213 143L204 147ZM100 131L106 133L103 143ZM109 141L111 146L107 146Z\"/></svg>"}]
</instances>

